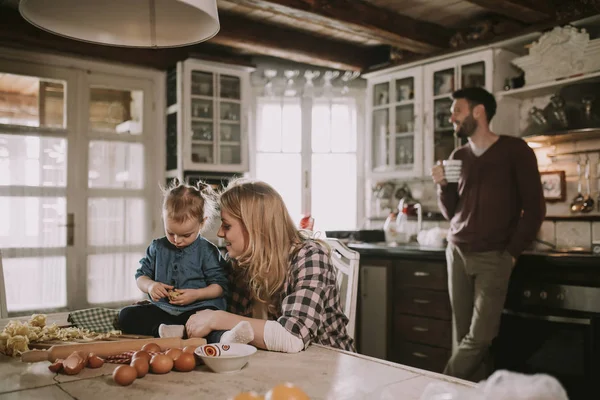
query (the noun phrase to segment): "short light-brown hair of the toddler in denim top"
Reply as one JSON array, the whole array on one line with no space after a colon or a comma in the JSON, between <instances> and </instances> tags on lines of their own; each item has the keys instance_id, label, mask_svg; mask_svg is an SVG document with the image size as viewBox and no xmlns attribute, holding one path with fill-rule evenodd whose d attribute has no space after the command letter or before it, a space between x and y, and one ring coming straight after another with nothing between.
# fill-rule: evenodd
<instances>
[{"instance_id":1,"label":"short light-brown hair of the toddler in denim top","mask_svg":"<svg viewBox=\"0 0 600 400\"><path fill-rule=\"evenodd\" d=\"M162 188L162 192L165 218L178 223L196 220L204 227L207 225L205 222L216 214L216 193L202 181L192 186L175 179L169 186Z\"/></svg>"}]
</instances>

